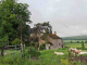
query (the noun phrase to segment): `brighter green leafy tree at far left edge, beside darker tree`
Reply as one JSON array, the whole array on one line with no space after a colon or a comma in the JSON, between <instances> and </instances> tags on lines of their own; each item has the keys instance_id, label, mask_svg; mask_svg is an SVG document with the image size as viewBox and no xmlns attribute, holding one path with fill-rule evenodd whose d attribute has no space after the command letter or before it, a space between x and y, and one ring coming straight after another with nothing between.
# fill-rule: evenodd
<instances>
[{"instance_id":1,"label":"brighter green leafy tree at far left edge, beside darker tree","mask_svg":"<svg viewBox=\"0 0 87 65\"><path fill-rule=\"evenodd\" d=\"M0 13L2 20L2 35L3 37L5 35L10 37L11 34L15 32L15 30L12 28L13 22L16 20L16 14L12 14L14 1L12 0L11 2L10 0L1 0L1 2L2 3L0 3Z\"/></svg>"}]
</instances>

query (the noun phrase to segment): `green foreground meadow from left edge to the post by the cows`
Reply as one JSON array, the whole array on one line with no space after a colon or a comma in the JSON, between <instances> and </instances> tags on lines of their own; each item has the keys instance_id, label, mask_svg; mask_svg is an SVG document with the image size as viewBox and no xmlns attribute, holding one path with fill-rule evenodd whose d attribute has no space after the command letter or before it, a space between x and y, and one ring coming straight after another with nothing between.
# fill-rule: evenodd
<instances>
[{"instance_id":1,"label":"green foreground meadow from left edge to the post by the cows","mask_svg":"<svg viewBox=\"0 0 87 65\"><path fill-rule=\"evenodd\" d=\"M30 57L29 54L25 56L25 60L22 58L21 53L16 53L15 55L7 54L4 57L0 57L0 63L2 65L60 65L61 58L67 58L69 48L58 49L58 50L44 50L40 51L40 55L38 58ZM64 55L57 55L57 52L63 52ZM27 50L25 54L27 53Z\"/></svg>"}]
</instances>

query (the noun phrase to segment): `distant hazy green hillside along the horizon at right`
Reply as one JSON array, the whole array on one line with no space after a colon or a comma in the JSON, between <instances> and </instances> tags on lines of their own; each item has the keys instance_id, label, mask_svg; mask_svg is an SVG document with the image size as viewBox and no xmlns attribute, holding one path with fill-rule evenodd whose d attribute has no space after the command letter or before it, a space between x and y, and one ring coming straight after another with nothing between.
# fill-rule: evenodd
<instances>
[{"instance_id":1,"label":"distant hazy green hillside along the horizon at right","mask_svg":"<svg viewBox=\"0 0 87 65\"><path fill-rule=\"evenodd\" d=\"M73 36L73 37L62 37L62 40L87 40L87 35Z\"/></svg>"}]
</instances>

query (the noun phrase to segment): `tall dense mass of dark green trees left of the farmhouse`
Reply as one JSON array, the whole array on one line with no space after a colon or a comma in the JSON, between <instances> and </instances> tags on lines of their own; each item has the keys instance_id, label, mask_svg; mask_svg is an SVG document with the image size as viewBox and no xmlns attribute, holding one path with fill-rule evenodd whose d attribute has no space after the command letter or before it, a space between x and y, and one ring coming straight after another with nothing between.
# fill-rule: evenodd
<instances>
[{"instance_id":1,"label":"tall dense mass of dark green trees left of the farmhouse","mask_svg":"<svg viewBox=\"0 0 87 65\"><path fill-rule=\"evenodd\" d=\"M9 37L9 41L13 41L15 38L21 37L21 31L24 35L28 34L29 26L26 23L32 23L30 12L28 11L28 4L17 3L15 0L1 0L0 13L2 23L2 35ZM21 25L22 24L22 25ZM21 29L22 26L22 29ZM1 31L0 31L1 32Z\"/></svg>"}]
</instances>

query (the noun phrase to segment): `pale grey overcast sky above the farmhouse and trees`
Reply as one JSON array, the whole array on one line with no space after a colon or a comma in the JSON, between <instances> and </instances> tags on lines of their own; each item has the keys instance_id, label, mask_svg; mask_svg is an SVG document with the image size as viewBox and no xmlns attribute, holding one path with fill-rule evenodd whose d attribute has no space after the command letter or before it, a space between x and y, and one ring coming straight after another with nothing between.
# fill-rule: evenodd
<instances>
[{"instance_id":1,"label":"pale grey overcast sky above the farmhouse and trees","mask_svg":"<svg viewBox=\"0 0 87 65\"><path fill-rule=\"evenodd\" d=\"M87 35L87 0L18 0L27 3L36 23L50 22L60 37Z\"/></svg>"}]
</instances>

